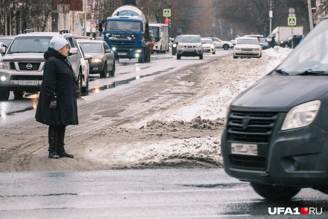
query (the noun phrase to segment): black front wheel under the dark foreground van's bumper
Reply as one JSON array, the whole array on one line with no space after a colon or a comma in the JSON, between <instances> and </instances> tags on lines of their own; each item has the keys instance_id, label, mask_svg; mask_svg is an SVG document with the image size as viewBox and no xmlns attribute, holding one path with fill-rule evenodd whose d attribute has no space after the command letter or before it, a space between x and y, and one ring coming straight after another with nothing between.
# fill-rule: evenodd
<instances>
[{"instance_id":1,"label":"black front wheel under the dark foreground van's bumper","mask_svg":"<svg viewBox=\"0 0 328 219\"><path fill-rule=\"evenodd\" d=\"M271 201L288 200L300 191L300 188L283 185L269 185L255 182L251 182L250 185L257 194Z\"/></svg>"}]
</instances>

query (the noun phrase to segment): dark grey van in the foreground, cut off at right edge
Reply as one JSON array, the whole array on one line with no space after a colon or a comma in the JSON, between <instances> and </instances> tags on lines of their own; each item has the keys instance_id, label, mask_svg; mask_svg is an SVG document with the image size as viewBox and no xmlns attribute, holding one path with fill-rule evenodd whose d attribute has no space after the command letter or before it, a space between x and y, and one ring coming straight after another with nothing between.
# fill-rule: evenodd
<instances>
[{"instance_id":1,"label":"dark grey van in the foreground, cut off at right edge","mask_svg":"<svg viewBox=\"0 0 328 219\"><path fill-rule=\"evenodd\" d=\"M221 150L226 173L266 199L328 194L328 16L231 102Z\"/></svg>"}]
</instances>

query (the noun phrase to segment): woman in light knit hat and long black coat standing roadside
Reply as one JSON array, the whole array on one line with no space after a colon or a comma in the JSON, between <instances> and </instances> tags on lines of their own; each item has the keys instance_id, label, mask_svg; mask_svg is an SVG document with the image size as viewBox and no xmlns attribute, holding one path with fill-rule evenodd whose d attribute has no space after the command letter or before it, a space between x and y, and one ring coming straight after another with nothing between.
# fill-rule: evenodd
<instances>
[{"instance_id":1,"label":"woman in light knit hat and long black coat standing roadside","mask_svg":"<svg viewBox=\"0 0 328 219\"><path fill-rule=\"evenodd\" d=\"M49 158L70 157L64 149L66 125L78 124L75 74L66 59L68 42L58 36L50 40L52 48L44 52L46 59L35 118L49 125Z\"/></svg>"}]
</instances>

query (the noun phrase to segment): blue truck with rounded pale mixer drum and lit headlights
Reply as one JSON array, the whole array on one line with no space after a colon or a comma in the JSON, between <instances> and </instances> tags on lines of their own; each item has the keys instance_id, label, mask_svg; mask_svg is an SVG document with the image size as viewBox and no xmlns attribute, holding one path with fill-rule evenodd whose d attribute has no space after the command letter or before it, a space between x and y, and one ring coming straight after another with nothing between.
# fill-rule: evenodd
<instances>
[{"instance_id":1,"label":"blue truck with rounded pale mixer drum and lit headlights","mask_svg":"<svg viewBox=\"0 0 328 219\"><path fill-rule=\"evenodd\" d=\"M103 39L117 61L137 58L139 63L150 62L148 21L133 5L123 5L106 18Z\"/></svg>"}]
</instances>

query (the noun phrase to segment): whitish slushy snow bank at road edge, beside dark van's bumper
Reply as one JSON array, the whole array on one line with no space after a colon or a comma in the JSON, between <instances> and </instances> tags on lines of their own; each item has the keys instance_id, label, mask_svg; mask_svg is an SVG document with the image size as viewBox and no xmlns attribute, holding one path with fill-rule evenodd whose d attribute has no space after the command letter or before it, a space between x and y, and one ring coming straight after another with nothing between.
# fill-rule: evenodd
<instances>
[{"instance_id":1,"label":"whitish slushy snow bank at road edge, beside dark van's bumper","mask_svg":"<svg viewBox=\"0 0 328 219\"><path fill-rule=\"evenodd\" d=\"M124 151L121 149L112 154L123 157L127 167L143 166L221 166L221 149L219 140L210 136L192 137L188 139L171 139L144 145L137 143L135 149ZM125 147L124 147L125 148ZM128 146L129 148L129 146ZM122 153L124 154L122 156Z\"/></svg>"}]
</instances>

